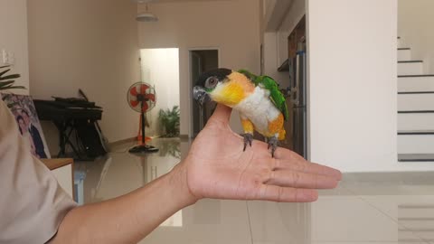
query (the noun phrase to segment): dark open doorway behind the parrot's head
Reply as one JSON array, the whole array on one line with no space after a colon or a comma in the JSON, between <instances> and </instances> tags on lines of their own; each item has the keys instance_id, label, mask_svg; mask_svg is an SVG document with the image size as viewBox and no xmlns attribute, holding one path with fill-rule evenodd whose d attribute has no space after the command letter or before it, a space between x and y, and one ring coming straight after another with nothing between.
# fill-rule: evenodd
<instances>
[{"instance_id":1,"label":"dark open doorway behind the parrot's head","mask_svg":"<svg viewBox=\"0 0 434 244\"><path fill-rule=\"evenodd\" d=\"M206 70L213 70L219 68L219 50L206 49L206 50L190 50L190 90L196 83L199 76ZM192 119L191 135L196 137L197 134L206 125L206 122L211 117L212 112L216 106L215 102L208 102L199 106L194 99L192 99Z\"/></svg>"}]
</instances>

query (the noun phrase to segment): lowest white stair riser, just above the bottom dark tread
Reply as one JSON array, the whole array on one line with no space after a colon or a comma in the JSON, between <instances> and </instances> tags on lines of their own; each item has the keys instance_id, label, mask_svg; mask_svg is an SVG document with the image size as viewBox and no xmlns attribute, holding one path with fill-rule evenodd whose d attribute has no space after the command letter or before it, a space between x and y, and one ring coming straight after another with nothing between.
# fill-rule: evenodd
<instances>
[{"instance_id":1,"label":"lowest white stair riser, just above the bottom dark tread","mask_svg":"<svg viewBox=\"0 0 434 244\"><path fill-rule=\"evenodd\" d=\"M399 133L398 154L434 154L434 132Z\"/></svg>"}]
</instances>

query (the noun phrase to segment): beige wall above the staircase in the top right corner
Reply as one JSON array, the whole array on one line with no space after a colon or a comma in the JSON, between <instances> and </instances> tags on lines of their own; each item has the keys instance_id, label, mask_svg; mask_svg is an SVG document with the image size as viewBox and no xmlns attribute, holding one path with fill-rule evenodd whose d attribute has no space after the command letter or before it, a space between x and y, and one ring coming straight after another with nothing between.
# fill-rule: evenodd
<instances>
[{"instance_id":1,"label":"beige wall above the staircase in the top right corner","mask_svg":"<svg viewBox=\"0 0 434 244\"><path fill-rule=\"evenodd\" d=\"M425 72L434 73L434 1L399 0L398 35L411 48L413 60L423 60Z\"/></svg>"}]
</instances>

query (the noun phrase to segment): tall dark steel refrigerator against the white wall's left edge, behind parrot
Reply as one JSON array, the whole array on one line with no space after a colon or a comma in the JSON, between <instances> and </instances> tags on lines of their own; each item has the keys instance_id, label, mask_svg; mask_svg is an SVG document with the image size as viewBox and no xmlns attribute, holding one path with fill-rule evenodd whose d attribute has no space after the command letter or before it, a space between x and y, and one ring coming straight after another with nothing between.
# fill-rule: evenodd
<instances>
[{"instance_id":1,"label":"tall dark steel refrigerator against the white wall's left edge, behind parrot","mask_svg":"<svg viewBox=\"0 0 434 244\"><path fill-rule=\"evenodd\" d=\"M297 55L290 61L289 66L291 149L307 158L307 54L304 42L300 42L298 46Z\"/></svg>"}]
</instances>

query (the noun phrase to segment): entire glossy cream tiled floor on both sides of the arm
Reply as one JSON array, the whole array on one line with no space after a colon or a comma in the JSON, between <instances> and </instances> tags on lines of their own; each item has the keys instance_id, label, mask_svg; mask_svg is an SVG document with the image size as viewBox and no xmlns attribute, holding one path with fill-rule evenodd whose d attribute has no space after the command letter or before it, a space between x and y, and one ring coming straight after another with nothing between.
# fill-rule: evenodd
<instances>
[{"instance_id":1,"label":"entire glossy cream tiled floor on both sides of the arm","mask_svg":"<svg viewBox=\"0 0 434 244\"><path fill-rule=\"evenodd\" d=\"M155 139L160 153L76 164L86 172L84 201L99 202L149 183L185 155L189 142ZM177 212L140 244L434 244L434 173L344 174L317 202L203 200Z\"/></svg>"}]
</instances>

